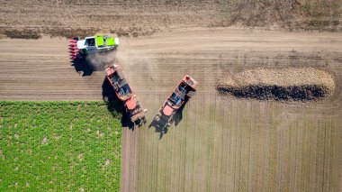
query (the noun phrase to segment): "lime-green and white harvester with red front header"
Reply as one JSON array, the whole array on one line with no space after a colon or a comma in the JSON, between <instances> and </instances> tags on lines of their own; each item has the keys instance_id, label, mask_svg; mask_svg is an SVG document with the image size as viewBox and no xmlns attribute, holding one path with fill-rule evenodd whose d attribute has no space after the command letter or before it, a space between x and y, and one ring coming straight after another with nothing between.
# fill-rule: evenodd
<instances>
[{"instance_id":1,"label":"lime-green and white harvester with red front header","mask_svg":"<svg viewBox=\"0 0 342 192\"><path fill-rule=\"evenodd\" d=\"M69 43L71 59L82 59L92 53L116 49L119 46L119 38L95 35L81 40L79 37L73 37L69 39Z\"/></svg>"}]
</instances>

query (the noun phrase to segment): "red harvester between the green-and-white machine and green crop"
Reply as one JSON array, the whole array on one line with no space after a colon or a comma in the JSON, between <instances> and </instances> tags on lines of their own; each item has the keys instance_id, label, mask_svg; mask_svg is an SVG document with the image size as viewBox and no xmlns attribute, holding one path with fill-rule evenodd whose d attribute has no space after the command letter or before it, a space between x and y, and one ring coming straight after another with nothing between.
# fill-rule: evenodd
<instances>
[{"instance_id":1,"label":"red harvester between the green-and-white machine and green crop","mask_svg":"<svg viewBox=\"0 0 342 192\"><path fill-rule=\"evenodd\" d=\"M130 114L131 122L139 126L146 123L145 113L147 110L141 107L138 97L133 94L133 90L127 83L120 65L115 63L105 71L116 96L124 103L126 113Z\"/></svg>"}]
</instances>

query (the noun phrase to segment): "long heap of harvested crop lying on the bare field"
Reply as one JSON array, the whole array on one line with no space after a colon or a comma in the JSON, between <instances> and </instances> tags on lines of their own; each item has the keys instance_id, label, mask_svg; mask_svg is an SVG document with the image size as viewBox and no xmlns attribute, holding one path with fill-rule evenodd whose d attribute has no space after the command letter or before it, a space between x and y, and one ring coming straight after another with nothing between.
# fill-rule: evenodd
<instances>
[{"instance_id":1,"label":"long heap of harvested crop lying on the bare field","mask_svg":"<svg viewBox=\"0 0 342 192\"><path fill-rule=\"evenodd\" d=\"M216 89L222 96L311 101L332 96L335 81L329 73L312 68L250 69L222 77Z\"/></svg>"}]
</instances>

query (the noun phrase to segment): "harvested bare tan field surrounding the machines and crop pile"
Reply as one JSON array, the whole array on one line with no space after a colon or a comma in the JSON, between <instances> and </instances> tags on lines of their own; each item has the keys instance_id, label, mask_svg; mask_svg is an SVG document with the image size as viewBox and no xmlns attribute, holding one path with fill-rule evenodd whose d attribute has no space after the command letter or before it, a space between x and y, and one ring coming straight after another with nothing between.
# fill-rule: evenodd
<instances>
[{"instance_id":1,"label":"harvested bare tan field surrounding the machines and crop pile","mask_svg":"<svg viewBox=\"0 0 342 192\"><path fill-rule=\"evenodd\" d=\"M341 33L238 29L121 39L118 57L148 119L185 73L200 83L183 121L162 140L153 128L124 130L121 190L341 190L341 40ZM102 99L103 72L80 77L66 39L0 44L1 100ZM335 96L279 104L224 99L215 91L223 73L287 66L333 74Z\"/></svg>"}]
</instances>

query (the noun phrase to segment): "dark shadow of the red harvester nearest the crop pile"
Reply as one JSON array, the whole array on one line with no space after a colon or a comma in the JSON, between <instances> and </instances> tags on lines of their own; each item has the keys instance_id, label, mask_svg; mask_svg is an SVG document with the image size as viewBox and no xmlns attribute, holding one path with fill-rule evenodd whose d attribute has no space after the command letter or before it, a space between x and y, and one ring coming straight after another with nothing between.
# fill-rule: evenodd
<instances>
[{"instance_id":1,"label":"dark shadow of the red harvester nearest the crop pile","mask_svg":"<svg viewBox=\"0 0 342 192\"><path fill-rule=\"evenodd\" d=\"M164 115L162 109L159 109L152 122L148 125L148 128L154 127L155 132L159 133L159 140L163 137L164 134L167 133L168 127L171 124L175 123L175 126L177 126L179 123L181 123L183 119L183 110L188 101L189 98L186 97L184 100L184 104L175 111L175 114L171 114L170 116Z\"/></svg>"}]
</instances>

